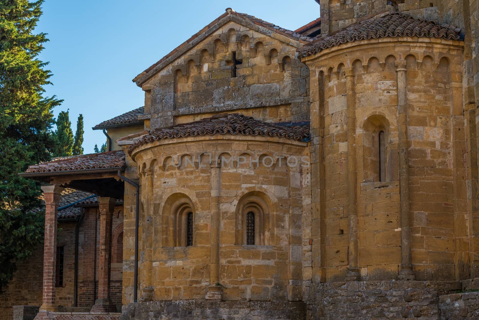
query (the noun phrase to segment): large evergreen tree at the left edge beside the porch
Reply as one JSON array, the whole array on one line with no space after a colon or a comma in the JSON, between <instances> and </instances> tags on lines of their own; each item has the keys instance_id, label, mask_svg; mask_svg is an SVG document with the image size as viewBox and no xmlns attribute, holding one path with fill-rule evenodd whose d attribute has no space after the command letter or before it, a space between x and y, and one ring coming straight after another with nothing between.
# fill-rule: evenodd
<instances>
[{"instance_id":1,"label":"large evergreen tree at the left edge beside the porch","mask_svg":"<svg viewBox=\"0 0 479 320\"><path fill-rule=\"evenodd\" d=\"M18 175L49 160L52 110L61 103L44 96L51 73L37 56L48 39L33 33L42 2L0 1L0 290L44 235L45 216L33 210L41 207L40 184Z\"/></svg>"}]
</instances>

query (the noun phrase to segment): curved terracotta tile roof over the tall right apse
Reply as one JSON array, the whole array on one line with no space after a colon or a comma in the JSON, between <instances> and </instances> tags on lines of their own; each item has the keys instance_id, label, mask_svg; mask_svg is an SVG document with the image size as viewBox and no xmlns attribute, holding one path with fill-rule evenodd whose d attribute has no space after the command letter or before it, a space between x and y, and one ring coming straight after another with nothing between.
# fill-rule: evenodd
<instances>
[{"instance_id":1,"label":"curved terracotta tile roof over the tall right apse","mask_svg":"<svg viewBox=\"0 0 479 320\"><path fill-rule=\"evenodd\" d=\"M415 19L409 15L391 12L352 24L327 37L319 38L298 49L299 57L308 57L321 50L359 40L387 37L426 37L459 40L460 29L441 26L433 21Z\"/></svg>"}]
</instances>

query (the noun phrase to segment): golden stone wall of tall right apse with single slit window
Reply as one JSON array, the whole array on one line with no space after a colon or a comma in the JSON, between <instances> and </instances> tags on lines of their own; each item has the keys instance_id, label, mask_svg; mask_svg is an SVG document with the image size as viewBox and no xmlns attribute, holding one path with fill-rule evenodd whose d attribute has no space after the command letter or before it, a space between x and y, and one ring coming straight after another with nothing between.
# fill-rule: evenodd
<instances>
[{"instance_id":1,"label":"golden stone wall of tall right apse with single slit window","mask_svg":"<svg viewBox=\"0 0 479 320\"><path fill-rule=\"evenodd\" d=\"M312 179L315 174L319 176L316 185L322 181L325 190L322 194L313 186L319 208L317 217L313 210L313 226L317 226L313 229L313 279L317 281L345 279L355 252L361 279L397 277L401 265L397 69L402 64L407 82L409 218L415 277L458 280L468 273L463 161L467 137L458 67L462 50L389 42L378 41L372 51L361 44L348 47L347 58L341 49L328 49L321 58L308 57L306 61L311 70L316 70L314 77L318 79L311 81L311 110L317 112L311 114L312 149L324 149L324 167L319 166L317 171L312 167ZM349 84L354 90L348 88L348 77L354 79ZM350 171L347 158L347 107L351 103L355 171ZM375 154L376 133L380 131L387 141L384 180L378 179L374 169L379 164ZM318 138L314 138L316 134ZM312 159L314 162L315 157ZM357 225L350 217L354 212L349 202L350 174L356 177L357 201L353 208ZM352 227L358 230L357 251L352 247Z\"/></svg>"}]
</instances>

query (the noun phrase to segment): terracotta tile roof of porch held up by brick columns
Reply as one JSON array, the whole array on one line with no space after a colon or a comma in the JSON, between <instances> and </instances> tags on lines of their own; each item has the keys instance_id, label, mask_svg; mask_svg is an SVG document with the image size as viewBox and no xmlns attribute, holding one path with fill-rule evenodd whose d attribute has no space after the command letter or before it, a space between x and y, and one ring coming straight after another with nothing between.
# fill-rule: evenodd
<instances>
[{"instance_id":1,"label":"terracotta tile roof of porch held up by brick columns","mask_svg":"<svg viewBox=\"0 0 479 320\"><path fill-rule=\"evenodd\" d=\"M126 166L123 150L91 153L81 156L55 158L29 166L25 173L62 172L103 168L124 168Z\"/></svg>"}]
</instances>

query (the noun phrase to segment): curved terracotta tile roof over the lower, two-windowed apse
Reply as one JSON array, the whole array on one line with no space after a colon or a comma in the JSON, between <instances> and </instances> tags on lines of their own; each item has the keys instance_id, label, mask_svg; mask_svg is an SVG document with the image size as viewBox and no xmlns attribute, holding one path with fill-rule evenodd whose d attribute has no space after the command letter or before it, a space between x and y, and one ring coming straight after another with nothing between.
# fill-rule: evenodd
<instances>
[{"instance_id":1,"label":"curved terracotta tile roof over the lower, two-windowed apse","mask_svg":"<svg viewBox=\"0 0 479 320\"><path fill-rule=\"evenodd\" d=\"M131 153L138 146L154 140L214 134L285 137L301 141L309 137L309 124L278 126L242 114L219 114L199 121L150 131L138 137L135 143L128 147L128 152Z\"/></svg>"}]
</instances>

